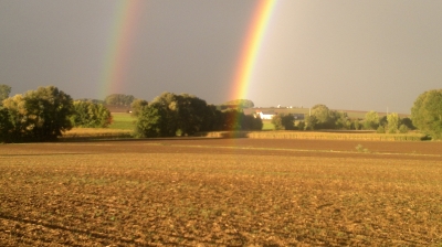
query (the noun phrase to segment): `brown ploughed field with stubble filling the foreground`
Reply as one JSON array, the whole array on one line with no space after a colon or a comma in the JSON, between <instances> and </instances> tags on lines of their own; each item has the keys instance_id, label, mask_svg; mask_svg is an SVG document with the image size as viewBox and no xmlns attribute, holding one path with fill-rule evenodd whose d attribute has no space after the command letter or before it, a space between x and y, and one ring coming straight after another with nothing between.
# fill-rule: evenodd
<instances>
[{"instance_id":1,"label":"brown ploughed field with stubble filling the foreground","mask_svg":"<svg viewBox=\"0 0 442 247\"><path fill-rule=\"evenodd\" d=\"M0 244L440 246L441 150L298 139L3 144Z\"/></svg>"}]
</instances>

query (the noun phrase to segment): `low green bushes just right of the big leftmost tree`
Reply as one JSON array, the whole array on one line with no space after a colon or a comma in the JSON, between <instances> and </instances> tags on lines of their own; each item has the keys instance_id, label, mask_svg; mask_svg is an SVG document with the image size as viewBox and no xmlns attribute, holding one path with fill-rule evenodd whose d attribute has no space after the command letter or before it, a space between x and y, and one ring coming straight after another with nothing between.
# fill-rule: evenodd
<instances>
[{"instance_id":1,"label":"low green bushes just right of the big leftmost tree","mask_svg":"<svg viewBox=\"0 0 442 247\"><path fill-rule=\"evenodd\" d=\"M107 128L112 124L110 111L103 104L74 101L71 115L73 127Z\"/></svg>"}]
</instances>

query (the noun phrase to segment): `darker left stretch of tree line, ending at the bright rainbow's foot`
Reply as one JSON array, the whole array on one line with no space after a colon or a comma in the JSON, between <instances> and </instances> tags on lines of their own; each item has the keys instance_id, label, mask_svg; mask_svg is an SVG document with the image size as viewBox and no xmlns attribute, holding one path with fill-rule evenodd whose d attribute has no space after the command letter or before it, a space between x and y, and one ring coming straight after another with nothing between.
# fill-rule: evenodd
<instances>
[{"instance_id":1,"label":"darker left stretch of tree line, ending at the bright rainbow's foot","mask_svg":"<svg viewBox=\"0 0 442 247\"><path fill-rule=\"evenodd\" d=\"M260 130L262 120L239 109L220 110L189 94L164 93L151 103L114 94L105 100L73 100L54 86L9 97L0 85L0 141L51 141L74 128L106 128L112 121L106 105L130 106L136 137L191 136L200 131ZM106 104L106 105L105 105ZM253 103L252 103L253 104Z\"/></svg>"}]
</instances>

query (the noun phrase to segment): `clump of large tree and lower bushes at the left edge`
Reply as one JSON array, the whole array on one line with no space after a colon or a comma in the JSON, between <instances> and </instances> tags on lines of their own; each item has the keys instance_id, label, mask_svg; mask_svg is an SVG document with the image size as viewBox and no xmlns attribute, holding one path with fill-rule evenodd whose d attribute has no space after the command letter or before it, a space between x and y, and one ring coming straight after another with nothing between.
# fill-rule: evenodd
<instances>
[{"instance_id":1,"label":"clump of large tree and lower bushes at the left edge","mask_svg":"<svg viewBox=\"0 0 442 247\"><path fill-rule=\"evenodd\" d=\"M10 86L0 87L0 141L51 141L73 127L105 128L112 124L102 104L73 100L54 86L39 87L9 97Z\"/></svg>"}]
</instances>

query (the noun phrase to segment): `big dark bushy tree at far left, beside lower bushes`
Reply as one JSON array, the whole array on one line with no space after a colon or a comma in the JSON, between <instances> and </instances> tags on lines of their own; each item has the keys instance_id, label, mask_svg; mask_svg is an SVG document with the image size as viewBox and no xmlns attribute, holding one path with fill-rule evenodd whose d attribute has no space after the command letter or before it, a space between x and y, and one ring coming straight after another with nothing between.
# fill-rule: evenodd
<instances>
[{"instance_id":1,"label":"big dark bushy tree at far left, beside lower bushes","mask_svg":"<svg viewBox=\"0 0 442 247\"><path fill-rule=\"evenodd\" d=\"M72 98L54 86L15 95L3 100L3 104L13 126L11 140L54 140L72 128Z\"/></svg>"}]
</instances>

